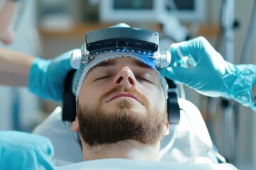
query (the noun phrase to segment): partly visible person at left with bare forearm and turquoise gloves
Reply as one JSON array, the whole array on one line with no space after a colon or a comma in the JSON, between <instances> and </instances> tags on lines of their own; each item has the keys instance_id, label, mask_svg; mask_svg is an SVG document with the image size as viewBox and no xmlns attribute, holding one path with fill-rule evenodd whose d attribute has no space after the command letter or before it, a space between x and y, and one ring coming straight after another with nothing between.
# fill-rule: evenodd
<instances>
[{"instance_id":1,"label":"partly visible person at left with bare forearm and turquoise gloves","mask_svg":"<svg viewBox=\"0 0 256 170\"><path fill-rule=\"evenodd\" d=\"M18 3L0 2L0 41L13 41L13 18ZM72 69L73 50L44 60L0 48L0 84L28 86L42 98L61 101L65 75ZM27 132L0 131L0 169L53 169L53 145L46 137Z\"/></svg>"}]
</instances>

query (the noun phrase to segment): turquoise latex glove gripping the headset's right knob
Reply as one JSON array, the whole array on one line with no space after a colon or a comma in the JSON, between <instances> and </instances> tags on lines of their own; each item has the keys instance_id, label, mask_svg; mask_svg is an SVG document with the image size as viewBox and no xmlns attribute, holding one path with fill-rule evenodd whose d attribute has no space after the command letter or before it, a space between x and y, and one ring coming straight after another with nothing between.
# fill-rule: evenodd
<instances>
[{"instance_id":1,"label":"turquoise latex glove gripping the headset's right knob","mask_svg":"<svg viewBox=\"0 0 256 170\"><path fill-rule=\"evenodd\" d=\"M234 98L256 110L252 88L256 66L226 62L203 37L171 45L171 64L161 74L206 96ZM192 67L187 67L189 64ZM186 67L186 68L185 68Z\"/></svg>"}]
</instances>

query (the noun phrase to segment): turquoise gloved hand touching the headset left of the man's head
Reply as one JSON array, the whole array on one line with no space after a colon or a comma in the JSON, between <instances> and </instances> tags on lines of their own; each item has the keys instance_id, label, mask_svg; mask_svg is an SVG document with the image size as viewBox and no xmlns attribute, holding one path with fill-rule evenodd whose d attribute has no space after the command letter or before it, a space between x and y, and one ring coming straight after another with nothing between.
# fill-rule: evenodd
<instances>
[{"instance_id":1,"label":"turquoise gloved hand touching the headset left of the man's head","mask_svg":"<svg viewBox=\"0 0 256 170\"><path fill-rule=\"evenodd\" d=\"M62 101L65 76L73 69L70 64L72 52L65 52L53 60L36 58L31 66L28 89L42 98Z\"/></svg>"}]
</instances>

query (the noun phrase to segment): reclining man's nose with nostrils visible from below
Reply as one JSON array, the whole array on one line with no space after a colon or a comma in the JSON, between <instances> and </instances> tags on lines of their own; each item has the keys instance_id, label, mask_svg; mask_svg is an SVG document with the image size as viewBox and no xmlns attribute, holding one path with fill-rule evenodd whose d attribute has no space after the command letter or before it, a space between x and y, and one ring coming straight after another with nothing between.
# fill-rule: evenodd
<instances>
[{"instance_id":1,"label":"reclining man's nose with nostrils visible from below","mask_svg":"<svg viewBox=\"0 0 256 170\"><path fill-rule=\"evenodd\" d=\"M114 86L127 86L134 87L136 85L136 78L132 70L124 66L117 72L116 77L114 77Z\"/></svg>"}]
</instances>

